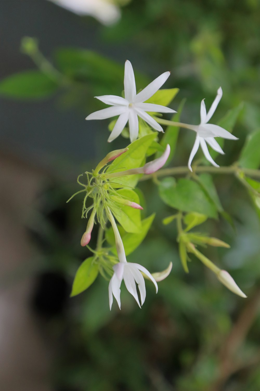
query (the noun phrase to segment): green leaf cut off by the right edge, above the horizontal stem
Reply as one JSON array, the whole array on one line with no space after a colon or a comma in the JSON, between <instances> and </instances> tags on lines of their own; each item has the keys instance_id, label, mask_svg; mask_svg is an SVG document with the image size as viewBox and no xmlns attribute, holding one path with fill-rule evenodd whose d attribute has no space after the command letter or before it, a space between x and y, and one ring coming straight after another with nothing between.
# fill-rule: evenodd
<instances>
[{"instance_id":1,"label":"green leaf cut off by the right edge, above the horizontal stem","mask_svg":"<svg viewBox=\"0 0 260 391\"><path fill-rule=\"evenodd\" d=\"M260 165L260 129L251 133L246 139L239 158L240 167L258 169Z\"/></svg>"}]
</instances>

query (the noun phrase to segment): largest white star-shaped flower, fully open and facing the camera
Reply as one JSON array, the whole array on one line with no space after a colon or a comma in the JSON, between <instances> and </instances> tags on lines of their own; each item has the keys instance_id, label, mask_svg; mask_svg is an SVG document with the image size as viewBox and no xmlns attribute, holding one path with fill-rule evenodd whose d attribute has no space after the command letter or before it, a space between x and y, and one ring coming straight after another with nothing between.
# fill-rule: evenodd
<instances>
[{"instance_id":1,"label":"largest white star-shaped flower, fully open and facing the camera","mask_svg":"<svg viewBox=\"0 0 260 391\"><path fill-rule=\"evenodd\" d=\"M116 95L103 95L95 97L101 102L112 105L103 110L95 111L88 115L86 120L101 120L105 118L115 117L119 115L117 122L111 132L108 142L117 138L129 121L130 141L133 142L138 137L138 117L142 118L147 124L159 132L163 132L163 128L154 118L152 118L146 111L158 113L176 113L176 111L159 104L144 103L166 82L170 72L164 72L157 77L152 83L148 84L143 90L136 94L136 85L134 79L134 71L130 61L126 60L125 75L124 75L124 89L125 98Z\"/></svg>"}]
</instances>

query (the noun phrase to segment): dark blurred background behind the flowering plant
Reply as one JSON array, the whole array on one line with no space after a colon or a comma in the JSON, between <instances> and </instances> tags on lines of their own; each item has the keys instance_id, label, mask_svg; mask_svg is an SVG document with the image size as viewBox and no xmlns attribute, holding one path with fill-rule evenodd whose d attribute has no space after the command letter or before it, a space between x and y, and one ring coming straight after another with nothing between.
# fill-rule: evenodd
<instances>
[{"instance_id":1,"label":"dark blurred background behind the flowering plant","mask_svg":"<svg viewBox=\"0 0 260 391\"><path fill-rule=\"evenodd\" d=\"M175 226L161 224L172 211L146 182L140 184L149 194L144 215L157 216L128 260L151 271L172 261L171 275L156 297L147 284L142 310L122 289L122 311L114 306L110 312L102 278L69 298L76 269L90 254L80 247L81 199L65 202L78 190L76 176L111 147L109 120L85 117L104 107L95 95L121 94L126 59L138 89L171 70L165 88L180 88L174 109L187 98L184 122L198 123L201 99L209 107L220 85L216 120L243 102L234 129L239 141L225 143L219 164L236 161L246 136L260 127L259 0L132 0L120 9L120 20L107 26L47 0L0 2L0 79L37 69L20 50L21 39L30 36L71 81L41 99L0 92L0 389L257 391L259 216L233 177L214 181L235 229L220 219L202 230L231 245L205 249L205 255L230 271L247 300L220 286L197 261L185 275ZM173 165L187 164L193 142L181 132ZM118 138L113 149L127 143Z\"/></svg>"}]
</instances>

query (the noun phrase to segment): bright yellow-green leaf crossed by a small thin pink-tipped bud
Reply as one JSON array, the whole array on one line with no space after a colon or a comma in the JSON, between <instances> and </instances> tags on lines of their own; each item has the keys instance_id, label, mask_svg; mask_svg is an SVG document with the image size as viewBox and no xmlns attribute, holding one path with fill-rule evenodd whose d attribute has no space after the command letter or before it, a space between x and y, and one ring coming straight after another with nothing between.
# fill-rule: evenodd
<instances>
[{"instance_id":1,"label":"bright yellow-green leaf crossed by a small thin pink-tipped bud","mask_svg":"<svg viewBox=\"0 0 260 391\"><path fill-rule=\"evenodd\" d=\"M134 190L119 189L117 194L129 199L137 204L140 203L139 197ZM141 211L140 209L131 208L131 206L109 204L111 212L122 225L125 231L132 233L140 233L141 231Z\"/></svg>"}]
</instances>

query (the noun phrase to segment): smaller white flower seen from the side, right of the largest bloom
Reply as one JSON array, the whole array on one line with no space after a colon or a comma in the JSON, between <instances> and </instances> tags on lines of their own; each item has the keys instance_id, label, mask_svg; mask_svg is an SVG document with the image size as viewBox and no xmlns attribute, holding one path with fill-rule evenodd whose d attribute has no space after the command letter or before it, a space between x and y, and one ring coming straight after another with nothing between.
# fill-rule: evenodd
<instances>
[{"instance_id":1,"label":"smaller white flower seen from the side, right of the largest bloom","mask_svg":"<svg viewBox=\"0 0 260 391\"><path fill-rule=\"evenodd\" d=\"M208 124L210 118L214 114L219 104L221 97L222 97L222 88L219 87L218 94L214 102L212 103L208 113L206 112L206 107L203 99L200 106L200 125L191 126L191 129L195 130L197 133L195 143L193 145L193 149L191 150L191 154L189 156L189 162L188 162L188 167L191 171L192 171L191 162L196 152L198 151L199 145L202 147L202 151L203 154L205 155L205 158L215 167L219 167L219 165L215 163L215 161L210 156L207 143L210 145L212 149L214 149L214 151L224 154L222 148L216 142L214 137L222 137L222 138L228 138L230 140L238 140L237 137L233 136L230 132L223 129L223 127L218 125Z\"/></svg>"}]
</instances>

